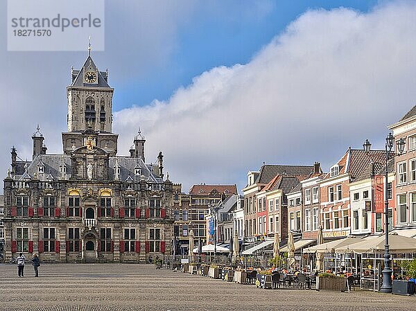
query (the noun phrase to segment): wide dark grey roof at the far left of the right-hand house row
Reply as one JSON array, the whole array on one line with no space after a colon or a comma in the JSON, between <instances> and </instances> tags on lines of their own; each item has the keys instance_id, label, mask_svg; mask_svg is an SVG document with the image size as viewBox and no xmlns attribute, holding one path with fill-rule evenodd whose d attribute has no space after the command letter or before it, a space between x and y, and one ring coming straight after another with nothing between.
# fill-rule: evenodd
<instances>
[{"instance_id":1,"label":"wide dark grey roof at the far left of the right-hand house row","mask_svg":"<svg viewBox=\"0 0 416 311\"><path fill-rule=\"evenodd\" d=\"M313 166L281 166L281 165L263 165L261 166L259 177L256 184L268 184L276 175L304 175L309 176L314 172Z\"/></svg>"}]
</instances>

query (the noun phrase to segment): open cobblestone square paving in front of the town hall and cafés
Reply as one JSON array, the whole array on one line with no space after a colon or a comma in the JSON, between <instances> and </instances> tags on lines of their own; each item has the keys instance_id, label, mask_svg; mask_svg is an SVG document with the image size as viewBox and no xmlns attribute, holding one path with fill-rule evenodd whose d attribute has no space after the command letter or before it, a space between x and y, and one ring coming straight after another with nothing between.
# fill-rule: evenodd
<instances>
[{"instance_id":1,"label":"open cobblestone square paving in front of the town hall and caf\u00e9s","mask_svg":"<svg viewBox=\"0 0 416 311\"><path fill-rule=\"evenodd\" d=\"M415 310L416 297L263 290L153 265L0 265L0 310Z\"/></svg>"}]
</instances>

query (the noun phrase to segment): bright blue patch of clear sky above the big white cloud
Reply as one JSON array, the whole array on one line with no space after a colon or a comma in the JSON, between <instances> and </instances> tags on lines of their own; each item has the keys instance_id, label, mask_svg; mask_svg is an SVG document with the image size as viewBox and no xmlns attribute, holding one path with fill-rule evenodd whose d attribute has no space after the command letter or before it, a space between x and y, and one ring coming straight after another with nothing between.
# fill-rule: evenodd
<instances>
[{"instance_id":1,"label":"bright blue patch of clear sky above the big white cloud","mask_svg":"<svg viewBox=\"0 0 416 311\"><path fill-rule=\"evenodd\" d=\"M147 105L155 98L166 100L177 87L189 85L193 77L208 69L249 62L262 46L306 10L345 7L367 12L381 1L258 1L265 8L254 15L250 14L250 6L236 9L239 3L247 5L251 1L223 2L217 8L209 8L215 14L206 14L206 6L192 12L188 22L178 29L175 49L168 55L166 66L149 68L130 82L115 84L116 109L132 103Z\"/></svg>"}]
</instances>

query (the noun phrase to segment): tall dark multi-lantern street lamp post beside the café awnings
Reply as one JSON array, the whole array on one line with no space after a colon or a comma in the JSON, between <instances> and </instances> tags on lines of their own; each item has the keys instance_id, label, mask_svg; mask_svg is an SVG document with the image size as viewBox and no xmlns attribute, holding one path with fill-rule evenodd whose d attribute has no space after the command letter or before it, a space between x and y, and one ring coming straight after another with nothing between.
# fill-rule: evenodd
<instances>
[{"instance_id":1,"label":"tall dark multi-lantern street lamp post beside the caf\u00e9 awnings","mask_svg":"<svg viewBox=\"0 0 416 311\"><path fill-rule=\"evenodd\" d=\"M391 260L390 260L390 245L388 244L388 160L392 157L395 157L395 154L392 154L392 148L395 145L395 137L392 133L389 133L385 138L385 200L384 200L384 225L385 225L385 244L384 244L384 269L383 273L383 285L381 285L380 292L391 294L392 292L392 269L391 269ZM397 151L398 155L402 154L404 151L404 145L406 141L404 139L399 139L397 141ZM364 151L368 154L370 153L371 143L368 139L365 139L363 143Z\"/></svg>"}]
</instances>

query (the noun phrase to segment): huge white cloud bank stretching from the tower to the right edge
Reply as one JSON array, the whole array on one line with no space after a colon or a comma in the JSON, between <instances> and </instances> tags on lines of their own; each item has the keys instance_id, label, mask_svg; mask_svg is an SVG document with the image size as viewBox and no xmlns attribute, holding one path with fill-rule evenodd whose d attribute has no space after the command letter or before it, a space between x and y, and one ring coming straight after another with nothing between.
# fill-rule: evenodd
<instances>
[{"instance_id":1,"label":"huge white cloud bank stretching from the tower to the right edge","mask_svg":"<svg viewBox=\"0 0 416 311\"><path fill-rule=\"evenodd\" d=\"M311 10L248 64L211 69L167 101L115 113L119 151L137 127L146 159L165 154L171 179L244 186L268 163L328 167L386 126L416 96L416 6L393 3L361 14ZM377 145L375 143L374 145Z\"/></svg>"}]
</instances>

